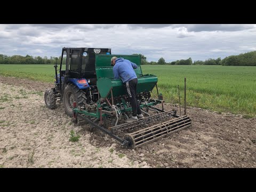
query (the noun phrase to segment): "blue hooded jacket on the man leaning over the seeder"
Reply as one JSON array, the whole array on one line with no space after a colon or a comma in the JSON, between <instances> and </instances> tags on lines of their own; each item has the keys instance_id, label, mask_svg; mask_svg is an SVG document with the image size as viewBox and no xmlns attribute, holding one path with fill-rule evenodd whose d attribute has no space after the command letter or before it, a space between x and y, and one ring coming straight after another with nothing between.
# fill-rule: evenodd
<instances>
[{"instance_id":1,"label":"blue hooded jacket on the man leaning over the seeder","mask_svg":"<svg viewBox=\"0 0 256 192\"><path fill-rule=\"evenodd\" d=\"M113 67L114 78L118 79L120 76L123 83L131 81L132 79L137 78L134 71L134 69L137 68L138 66L135 63L124 58L117 58L116 64Z\"/></svg>"}]
</instances>

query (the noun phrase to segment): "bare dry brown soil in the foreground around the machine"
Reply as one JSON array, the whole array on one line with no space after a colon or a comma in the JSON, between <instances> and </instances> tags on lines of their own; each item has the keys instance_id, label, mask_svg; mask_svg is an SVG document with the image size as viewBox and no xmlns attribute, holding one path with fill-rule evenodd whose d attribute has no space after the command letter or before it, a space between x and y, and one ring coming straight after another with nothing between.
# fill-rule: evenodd
<instances>
[{"instance_id":1,"label":"bare dry brown soil in the foreground around the machine","mask_svg":"<svg viewBox=\"0 0 256 192\"><path fill-rule=\"evenodd\" d=\"M256 118L188 107L191 127L131 150L72 123L58 101L46 108L51 87L0 77L0 167L256 167ZM69 141L71 130L79 141Z\"/></svg>"}]
</instances>

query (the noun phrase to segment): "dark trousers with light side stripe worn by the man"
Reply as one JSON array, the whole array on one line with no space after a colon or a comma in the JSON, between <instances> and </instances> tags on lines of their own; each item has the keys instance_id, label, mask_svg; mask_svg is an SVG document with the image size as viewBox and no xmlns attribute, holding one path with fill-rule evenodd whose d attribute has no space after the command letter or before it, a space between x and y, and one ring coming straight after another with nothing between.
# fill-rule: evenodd
<instances>
[{"instance_id":1,"label":"dark trousers with light side stripe worn by the man","mask_svg":"<svg viewBox=\"0 0 256 192\"><path fill-rule=\"evenodd\" d=\"M132 104L132 116L134 117L141 114L140 105L136 99L137 84L138 84L137 78L134 78L129 82L126 82L126 89Z\"/></svg>"}]
</instances>

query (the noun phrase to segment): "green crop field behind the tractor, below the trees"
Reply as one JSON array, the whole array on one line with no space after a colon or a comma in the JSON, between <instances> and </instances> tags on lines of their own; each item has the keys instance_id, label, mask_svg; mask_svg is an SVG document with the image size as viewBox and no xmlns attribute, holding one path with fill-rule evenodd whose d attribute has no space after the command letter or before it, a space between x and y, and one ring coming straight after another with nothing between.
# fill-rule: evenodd
<instances>
[{"instance_id":1,"label":"green crop field behind the tractor, below the trees","mask_svg":"<svg viewBox=\"0 0 256 192\"><path fill-rule=\"evenodd\" d=\"M256 115L256 67L243 66L142 66L143 74L158 77L164 100L184 104L184 78L188 106L221 112ZM0 75L54 82L53 65L0 65ZM153 95L156 91L153 91Z\"/></svg>"}]
</instances>

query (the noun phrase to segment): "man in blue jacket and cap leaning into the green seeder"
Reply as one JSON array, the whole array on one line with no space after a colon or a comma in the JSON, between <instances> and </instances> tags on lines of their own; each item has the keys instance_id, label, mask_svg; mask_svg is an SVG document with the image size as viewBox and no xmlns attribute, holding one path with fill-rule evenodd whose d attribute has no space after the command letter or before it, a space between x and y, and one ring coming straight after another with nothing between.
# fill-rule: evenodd
<instances>
[{"instance_id":1,"label":"man in blue jacket and cap leaning into the green seeder","mask_svg":"<svg viewBox=\"0 0 256 192\"><path fill-rule=\"evenodd\" d=\"M133 69L137 69L138 66L127 59L117 57L111 58L111 65L114 66L114 78L119 79L121 77L122 82L126 84L126 89L131 99L132 117L126 119L125 122L138 121L138 118L144 118L136 99L138 78Z\"/></svg>"}]
</instances>

